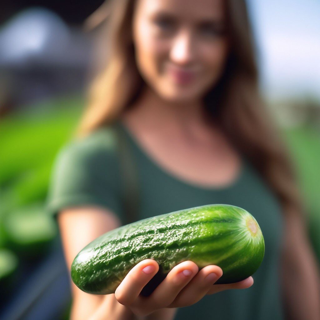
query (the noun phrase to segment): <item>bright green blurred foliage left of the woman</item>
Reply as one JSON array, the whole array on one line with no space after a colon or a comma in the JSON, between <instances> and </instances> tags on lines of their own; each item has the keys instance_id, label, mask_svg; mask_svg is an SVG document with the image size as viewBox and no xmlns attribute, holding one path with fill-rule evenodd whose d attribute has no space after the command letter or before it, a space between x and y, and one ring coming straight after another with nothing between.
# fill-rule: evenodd
<instances>
[{"instance_id":1,"label":"bright green blurred foliage left of the woman","mask_svg":"<svg viewBox=\"0 0 320 320\"><path fill-rule=\"evenodd\" d=\"M55 156L71 138L83 104L56 99L0 119L0 280L17 270L17 261L44 254L57 236L44 202Z\"/></svg>"}]
</instances>

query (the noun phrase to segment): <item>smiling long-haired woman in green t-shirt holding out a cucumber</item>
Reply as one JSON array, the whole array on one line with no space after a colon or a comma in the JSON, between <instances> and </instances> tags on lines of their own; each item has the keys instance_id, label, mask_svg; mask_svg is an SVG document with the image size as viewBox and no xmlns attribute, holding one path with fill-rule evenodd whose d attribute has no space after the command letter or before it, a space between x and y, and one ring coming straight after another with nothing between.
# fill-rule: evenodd
<instances>
[{"instance_id":1,"label":"smiling long-haired woman in green t-shirt holding out a cucumber","mask_svg":"<svg viewBox=\"0 0 320 320\"><path fill-rule=\"evenodd\" d=\"M319 319L316 262L290 165L259 97L244 1L116 0L109 24L108 63L92 85L79 139L61 151L53 176L49 210L59 212L68 267L127 218L107 139L115 124L137 163L137 220L233 204L257 219L266 251L254 284L249 277L213 285L219 266L185 261L142 297L158 270L148 259L115 294L72 285L71 319Z\"/></svg>"}]
</instances>

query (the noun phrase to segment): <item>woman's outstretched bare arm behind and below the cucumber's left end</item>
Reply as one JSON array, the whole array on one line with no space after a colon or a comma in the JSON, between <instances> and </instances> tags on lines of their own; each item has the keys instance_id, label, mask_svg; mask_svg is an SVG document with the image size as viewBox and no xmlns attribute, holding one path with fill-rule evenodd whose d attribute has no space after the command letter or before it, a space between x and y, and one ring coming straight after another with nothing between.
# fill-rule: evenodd
<instances>
[{"instance_id":1,"label":"woman's outstretched bare arm behind and below the cucumber's left end","mask_svg":"<svg viewBox=\"0 0 320 320\"><path fill-rule=\"evenodd\" d=\"M98 236L118 228L120 221L106 209L98 207L69 208L58 216L60 233L68 270L77 253ZM72 308L70 320L122 319L133 320L132 311L120 304L114 294L94 295L81 291L71 281ZM157 310L141 319L173 319L175 309Z\"/></svg>"}]
</instances>

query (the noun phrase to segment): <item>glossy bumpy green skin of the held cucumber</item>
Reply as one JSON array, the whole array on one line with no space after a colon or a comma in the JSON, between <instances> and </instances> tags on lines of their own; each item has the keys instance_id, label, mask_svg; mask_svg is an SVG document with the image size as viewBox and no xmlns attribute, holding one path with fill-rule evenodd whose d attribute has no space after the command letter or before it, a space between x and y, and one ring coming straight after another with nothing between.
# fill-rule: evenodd
<instances>
[{"instance_id":1,"label":"glossy bumpy green skin of the held cucumber","mask_svg":"<svg viewBox=\"0 0 320 320\"><path fill-rule=\"evenodd\" d=\"M246 221L256 222L254 235ZM260 266L264 238L254 217L242 208L209 204L179 210L111 230L84 247L71 266L71 278L84 292L114 293L140 261L154 259L163 277L177 264L191 260L199 269L218 265L216 284L251 276Z\"/></svg>"}]
</instances>

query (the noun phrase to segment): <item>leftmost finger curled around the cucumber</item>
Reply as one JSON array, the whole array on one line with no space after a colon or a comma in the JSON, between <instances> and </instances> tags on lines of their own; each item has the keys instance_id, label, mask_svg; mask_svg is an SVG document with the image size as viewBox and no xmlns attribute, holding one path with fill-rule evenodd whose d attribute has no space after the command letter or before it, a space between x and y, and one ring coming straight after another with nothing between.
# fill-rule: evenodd
<instances>
[{"instance_id":1,"label":"leftmost finger curled around the cucumber","mask_svg":"<svg viewBox=\"0 0 320 320\"><path fill-rule=\"evenodd\" d=\"M115 296L118 302L125 306L131 305L158 270L159 265L155 260L147 259L139 262L117 287Z\"/></svg>"}]
</instances>

